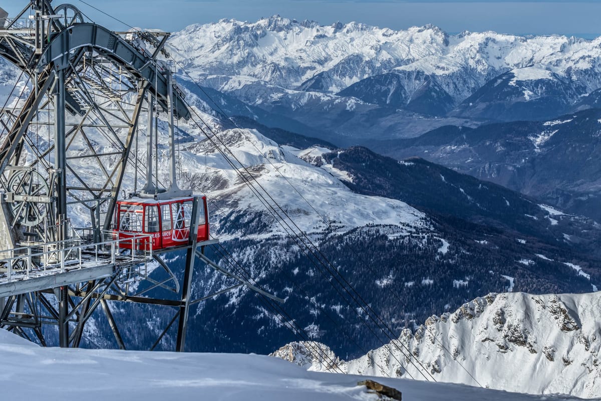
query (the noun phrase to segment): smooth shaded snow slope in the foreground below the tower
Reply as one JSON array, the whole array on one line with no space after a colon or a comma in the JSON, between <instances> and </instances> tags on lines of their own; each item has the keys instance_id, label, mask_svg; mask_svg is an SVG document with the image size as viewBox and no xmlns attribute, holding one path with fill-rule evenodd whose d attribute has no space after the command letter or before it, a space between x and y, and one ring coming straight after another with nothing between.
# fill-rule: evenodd
<instances>
[{"instance_id":1,"label":"smooth shaded snow slope in the foreground below the tower","mask_svg":"<svg viewBox=\"0 0 601 401\"><path fill-rule=\"evenodd\" d=\"M260 355L175 354L120 350L41 348L0 329L2 399L64 400L85 390L87 400L376 401L359 376L307 372ZM378 379L419 401L534 401L549 397L510 394L454 384ZM554 400L572 400L553 397Z\"/></svg>"}]
</instances>

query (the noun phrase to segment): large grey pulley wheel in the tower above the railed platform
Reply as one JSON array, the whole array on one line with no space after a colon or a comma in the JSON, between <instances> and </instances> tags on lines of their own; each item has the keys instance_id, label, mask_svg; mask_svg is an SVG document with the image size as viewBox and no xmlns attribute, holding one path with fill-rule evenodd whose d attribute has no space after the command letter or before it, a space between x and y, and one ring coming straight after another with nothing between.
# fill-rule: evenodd
<instances>
[{"instance_id":1,"label":"large grey pulley wheel in the tower above the railed platform","mask_svg":"<svg viewBox=\"0 0 601 401\"><path fill-rule=\"evenodd\" d=\"M44 221L48 204L40 201L49 197L50 188L46 178L35 170L16 171L8 181L8 206L13 215L13 227L17 224L34 227Z\"/></svg>"}]
</instances>

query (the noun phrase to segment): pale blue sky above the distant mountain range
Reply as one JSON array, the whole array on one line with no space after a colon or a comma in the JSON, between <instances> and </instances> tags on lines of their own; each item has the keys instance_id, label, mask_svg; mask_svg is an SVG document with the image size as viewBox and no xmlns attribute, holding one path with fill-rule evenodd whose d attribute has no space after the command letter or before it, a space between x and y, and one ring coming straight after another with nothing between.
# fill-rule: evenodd
<instances>
[{"instance_id":1,"label":"pale blue sky above the distant mountain range","mask_svg":"<svg viewBox=\"0 0 601 401\"><path fill-rule=\"evenodd\" d=\"M62 1L55 0L56 4ZM93 20L112 29L124 26L79 0L70 0ZM124 22L178 31L191 23L222 18L254 21L280 14L329 25L358 21L392 29L432 23L447 32L497 31L512 34L601 35L601 1L507 0L87 0ZM24 0L3 5L16 13Z\"/></svg>"}]
</instances>

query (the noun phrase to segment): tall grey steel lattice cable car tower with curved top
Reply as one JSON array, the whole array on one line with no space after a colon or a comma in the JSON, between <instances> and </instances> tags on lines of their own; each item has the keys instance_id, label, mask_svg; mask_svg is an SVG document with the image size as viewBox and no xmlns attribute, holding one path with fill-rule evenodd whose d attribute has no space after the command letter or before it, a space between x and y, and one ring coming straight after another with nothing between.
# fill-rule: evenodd
<instances>
[{"instance_id":1,"label":"tall grey steel lattice cable car tower with curved top","mask_svg":"<svg viewBox=\"0 0 601 401\"><path fill-rule=\"evenodd\" d=\"M108 231L123 180L144 177L132 155L141 114L191 117L159 60L168 57L168 34L112 32L85 22L73 5L50 2L31 0L0 27L0 56L27 80L0 110L0 237L11 245L0 246L10 248L0 251L0 328L46 345L44 326L58 326L60 346L78 347L85 323L102 309L125 348L108 301L163 305L175 315L152 348L178 320L182 351L191 305L249 283L234 277L236 286L192 300L194 262L206 262L211 242L191 235L178 248L186 251L180 280L159 253L123 253ZM82 213L91 224L73 227ZM150 262L160 266L153 278Z\"/></svg>"}]
</instances>

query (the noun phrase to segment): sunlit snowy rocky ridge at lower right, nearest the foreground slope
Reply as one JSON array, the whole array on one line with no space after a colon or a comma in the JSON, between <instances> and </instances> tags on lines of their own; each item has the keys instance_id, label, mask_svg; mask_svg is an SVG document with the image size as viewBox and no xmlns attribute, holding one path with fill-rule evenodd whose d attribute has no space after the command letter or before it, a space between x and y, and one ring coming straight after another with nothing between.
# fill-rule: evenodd
<instances>
[{"instance_id":1,"label":"sunlit snowy rocky ridge at lower right, nearest the foreground slope","mask_svg":"<svg viewBox=\"0 0 601 401\"><path fill-rule=\"evenodd\" d=\"M337 360L323 344L327 354L318 354L311 343L288 344L272 355L309 370L332 371L316 357L329 355L328 361L355 375L410 375L522 393L598 398L599 308L600 293L489 294L453 313L432 316L415 332L404 331L398 340L356 360Z\"/></svg>"}]
</instances>

